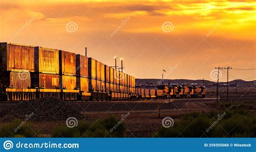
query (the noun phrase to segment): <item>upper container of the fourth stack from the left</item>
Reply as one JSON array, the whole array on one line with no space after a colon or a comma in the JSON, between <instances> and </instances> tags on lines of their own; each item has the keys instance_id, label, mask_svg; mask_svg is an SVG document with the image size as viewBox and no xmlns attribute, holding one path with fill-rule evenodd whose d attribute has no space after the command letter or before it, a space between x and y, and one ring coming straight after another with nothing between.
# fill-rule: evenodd
<instances>
[{"instance_id":1,"label":"upper container of the fourth stack from the left","mask_svg":"<svg viewBox=\"0 0 256 152\"><path fill-rule=\"evenodd\" d=\"M76 76L88 77L88 57L76 54Z\"/></svg>"}]
</instances>

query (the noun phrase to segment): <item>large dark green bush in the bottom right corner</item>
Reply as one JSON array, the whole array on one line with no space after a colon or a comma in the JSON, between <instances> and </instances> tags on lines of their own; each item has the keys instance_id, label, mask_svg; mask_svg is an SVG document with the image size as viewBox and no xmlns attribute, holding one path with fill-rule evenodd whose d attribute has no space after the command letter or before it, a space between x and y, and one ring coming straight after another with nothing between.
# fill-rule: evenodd
<instances>
[{"instance_id":1,"label":"large dark green bush in the bottom right corner","mask_svg":"<svg viewBox=\"0 0 256 152\"><path fill-rule=\"evenodd\" d=\"M208 129L218 118L218 113L190 113L174 122L170 128L161 127L154 137L254 137L256 130L255 114L248 111L232 111Z\"/></svg>"}]
</instances>

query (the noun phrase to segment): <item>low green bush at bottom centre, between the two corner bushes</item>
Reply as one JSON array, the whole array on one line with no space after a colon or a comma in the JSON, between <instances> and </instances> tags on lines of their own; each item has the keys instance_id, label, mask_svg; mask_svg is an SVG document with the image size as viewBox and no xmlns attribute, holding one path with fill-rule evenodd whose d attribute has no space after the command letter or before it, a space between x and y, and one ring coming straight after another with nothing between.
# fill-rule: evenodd
<instances>
[{"instance_id":1,"label":"low green bush at bottom centre, between the two corner bushes","mask_svg":"<svg viewBox=\"0 0 256 152\"><path fill-rule=\"evenodd\" d=\"M124 122L112 132L110 131L118 122L119 120L113 115L92 123L79 121L77 127L74 128L66 126L53 128L52 137L124 137L126 134Z\"/></svg>"}]
</instances>

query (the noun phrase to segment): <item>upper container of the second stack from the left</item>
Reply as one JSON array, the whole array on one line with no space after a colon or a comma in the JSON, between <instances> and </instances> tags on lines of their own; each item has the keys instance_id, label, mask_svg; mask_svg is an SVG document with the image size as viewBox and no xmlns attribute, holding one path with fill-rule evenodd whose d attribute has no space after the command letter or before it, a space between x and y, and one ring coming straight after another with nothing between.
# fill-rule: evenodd
<instances>
[{"instance_id":1,"label":"upper container of the second stack from the left","mask_svg":"<svg viewBox=\"0 0 256 152\"><path fill-rule=\"evenodd\" d=\"M35 47L35 71L45 74L59 74L59 50Z\"/></svg>"}]
</instances>

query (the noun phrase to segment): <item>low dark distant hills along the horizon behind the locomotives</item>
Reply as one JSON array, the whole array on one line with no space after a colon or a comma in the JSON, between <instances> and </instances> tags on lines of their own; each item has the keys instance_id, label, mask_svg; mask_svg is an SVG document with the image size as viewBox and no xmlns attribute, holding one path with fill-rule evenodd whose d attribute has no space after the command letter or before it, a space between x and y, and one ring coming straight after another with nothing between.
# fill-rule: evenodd
<instances>
[{"instance_id":1,"label":"low dark distant hills along the horizon behind the locomotives","mask_svg":"<svg viewBox=\"0 0 256 152\"><path fill-rule=\"evenodd\" d=\"M235 84L235 82L237 82L237 85L239 86L244 86L244 87L248 87L248 86L254 86L256 87L256 81L244 81L242 79L235 79L233 81L230 81L229 84ZM192 80L192 79L164 79L164 84L179 84L179 85L183 85L183 84L198 84L198 85L203 85L203 79L196 79L196 80ZM155 78L136 78L136 84L142 84L142 85L146 85L146 84L150 84L150 85L161 85L162 81L161 79L155 79ZM215 85L216 82L213 81L208 81L208 80L204 80L204 85ZM226 84L226 82L220 82L220 85L224 85Z\"/></svg>"}]
</instances>

